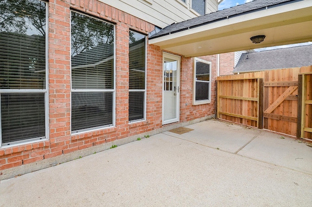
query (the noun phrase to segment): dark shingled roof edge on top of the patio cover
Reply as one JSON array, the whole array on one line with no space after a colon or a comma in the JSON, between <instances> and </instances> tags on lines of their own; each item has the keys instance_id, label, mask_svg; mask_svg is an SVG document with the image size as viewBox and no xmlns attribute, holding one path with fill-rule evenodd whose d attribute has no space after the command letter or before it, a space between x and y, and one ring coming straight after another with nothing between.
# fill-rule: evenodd
<instances>
[{"instance_id":1,"label":"dark shingled roof edge on top of the patio cover","mask_svg":"<svg viewBox=\"0 0 312 207\"><path fill-rule=\"evenodd\" d=\"M149 39L170 35L183 30L202 26L214 21L228 19L229 17L247 14L249 12L254 12L256 10L267 9L267 7L274 7L277 4L288 3L292 1L300 1L300 0L253 0L248 3L216 11L210 14L205 14L203 16L195 17L190 20L173 23L169 26L166 26L156 34L152 35Z\"/></svg>"}]
</instances>

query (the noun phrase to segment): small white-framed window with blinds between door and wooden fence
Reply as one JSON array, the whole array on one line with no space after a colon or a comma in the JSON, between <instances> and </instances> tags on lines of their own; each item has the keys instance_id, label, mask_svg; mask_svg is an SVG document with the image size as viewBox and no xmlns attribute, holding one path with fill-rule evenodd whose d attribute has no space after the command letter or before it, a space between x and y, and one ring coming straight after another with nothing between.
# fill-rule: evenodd
<instances>
[{"instance_id":1,"label":"small white-framed window with blinds between door and wooden fence","mask_svg":"<svg viewBox=\"0 0 312 207\"><path fill-rule=\"evenodd\" d=\"M207 104L211 100L211 62L194 59L193 104Z\"/></svg>"}]
</instances>

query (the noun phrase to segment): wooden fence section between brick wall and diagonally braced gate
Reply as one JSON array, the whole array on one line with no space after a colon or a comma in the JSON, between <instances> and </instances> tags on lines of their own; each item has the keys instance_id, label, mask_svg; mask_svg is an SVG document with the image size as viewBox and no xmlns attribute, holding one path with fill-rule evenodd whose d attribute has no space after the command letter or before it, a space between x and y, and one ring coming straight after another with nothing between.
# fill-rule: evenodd
<instances>
[{"instance_id":1,"label":"wooden fence section between brick wall and diagonally braced gate","mask_svg":"<svg viewBox=\"0 0 312 207\"><path fill-rule=\"evenodd\" d=\"M262 87L261 78L235 77L218 81L217 118L262 128Z\"/></svg>"}]
</instances>

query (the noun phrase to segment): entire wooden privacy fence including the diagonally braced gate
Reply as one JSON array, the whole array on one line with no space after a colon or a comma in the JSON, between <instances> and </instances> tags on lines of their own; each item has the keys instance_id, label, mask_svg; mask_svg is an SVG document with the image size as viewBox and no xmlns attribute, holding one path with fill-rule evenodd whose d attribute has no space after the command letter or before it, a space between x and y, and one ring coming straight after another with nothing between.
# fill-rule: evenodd
<instances>
[{"instance_id":1,"label":"entire wooden privacy fence including the diagonally braced gate","mask_svg":"<svg viewBox=\"0 0 312 207\"><path fill-rule=\"evenodd\" d=\"M311 139L312 66L217 77L216 116Z\"/></svg>"}]
</instances>

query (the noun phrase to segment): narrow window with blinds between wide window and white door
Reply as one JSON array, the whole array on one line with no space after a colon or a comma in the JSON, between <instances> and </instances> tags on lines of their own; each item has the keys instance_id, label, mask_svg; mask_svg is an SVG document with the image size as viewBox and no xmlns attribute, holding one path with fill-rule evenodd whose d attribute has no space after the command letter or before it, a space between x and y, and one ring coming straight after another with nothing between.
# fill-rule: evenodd
<instances>
[{"instance_id":1,"label":"narrow window with blinds between wide window and white door","mask_svg":"<svg viewBox=\"0 0 312 207\"><path fill-rule=\"evenodd\" d=\"M145 119L146 37L129 32L129 121Z\"/></svg>"}]
</instances>

